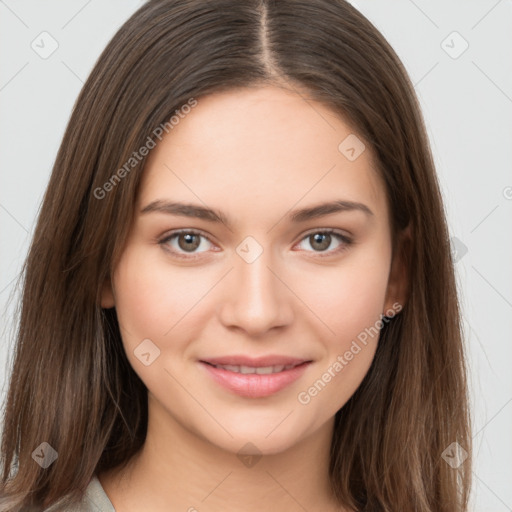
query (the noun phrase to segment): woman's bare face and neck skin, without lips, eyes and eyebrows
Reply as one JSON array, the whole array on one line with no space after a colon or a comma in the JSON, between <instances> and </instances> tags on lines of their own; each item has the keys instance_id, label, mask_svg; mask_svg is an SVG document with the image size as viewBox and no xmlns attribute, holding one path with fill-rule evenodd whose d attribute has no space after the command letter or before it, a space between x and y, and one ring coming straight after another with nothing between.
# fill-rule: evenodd
<instances>
[{"instance_id":1,"label":"woman's bare face and neck skin, without lips, eyes and eyebrows","mask_svg":"<svg viewBox=\"0 0 512 512\"><path fill-rule=\"evenodd\" d=\"M342 510L328 485L334 415L368 372L377 337L359 343L309 403L298 394L403 304L405 290L371 148L354 161L338 150L353 133L322 104L262 87L200 98L151 151L130 236L102 297L103 307L115 306L127 357L148 388L143 449L126 469L99 475L118 512ZM363 203L373 215L287 217L338 199ZM140 213L155 200L208 206L233 225ZM332 236L322 251L309 235L327 228L353 243ZM192 253L183 235L182 245L179 236L159 243L177 229L205 238ZM263 249L251 263L236 251L247 236ZM148 366L134 354L144 339L160 350ZM278 393L247 398L217 385L198 363L229 354L313 363ZM250 467L237 457L248 442L262 455Z\"/></svg>"}]
</instances>

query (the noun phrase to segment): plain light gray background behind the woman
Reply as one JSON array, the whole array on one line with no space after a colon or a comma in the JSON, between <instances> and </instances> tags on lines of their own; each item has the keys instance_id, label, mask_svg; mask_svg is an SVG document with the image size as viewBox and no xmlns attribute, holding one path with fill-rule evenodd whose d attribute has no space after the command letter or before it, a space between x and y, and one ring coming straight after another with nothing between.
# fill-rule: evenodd
<instances>
[{"instance_id":1,"label":"plain light gray background behind the woman","mask_svg":"<svg viewBox=\"0 0 512 512\"><path fill-rule=\"evenodd\" d=\"M510 511L512 1L352 3L387 37L415 84L457 239L474 416L471 510ZM0 0L2 403L12 353L13 284L71 108L106 43L141 4ZM51 48L43 31L58 43L46 59L31 48ZM464 40L469 47L458 55Z\"/></svg>"}]
</instances>

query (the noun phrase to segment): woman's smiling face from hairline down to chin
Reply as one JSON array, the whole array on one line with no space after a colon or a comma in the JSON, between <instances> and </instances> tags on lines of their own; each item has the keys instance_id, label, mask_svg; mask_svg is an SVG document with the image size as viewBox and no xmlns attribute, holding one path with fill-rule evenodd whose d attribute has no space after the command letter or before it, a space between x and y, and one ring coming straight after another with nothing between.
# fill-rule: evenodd
<instances>
[{"instance_id":1,"label":"woman's smiling face from hairline down to chin","mask_svg":"<svg viewBox=\"0 0 512 512\"><path fill-rule=\"evenodd\" d=\"M277 453L358 388L400 283L384 184L355 137L265 87L200 98L151 150L102 299L150 418Z\"/></svg>"}]
</instances>

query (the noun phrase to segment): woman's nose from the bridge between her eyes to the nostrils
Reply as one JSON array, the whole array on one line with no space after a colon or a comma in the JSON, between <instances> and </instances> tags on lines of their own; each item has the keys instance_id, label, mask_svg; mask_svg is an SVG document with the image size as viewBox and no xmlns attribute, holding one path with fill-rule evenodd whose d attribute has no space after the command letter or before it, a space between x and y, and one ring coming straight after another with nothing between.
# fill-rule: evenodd
<instances>
[{"instance_id":1,"label":"woman's nose from the bridge between her eyes to the nostrils","mask_svg":"<svg viewBox=\"0 0 512 512\"><path fill-rule=\"evenodd\" d=\"M223 322L251 334L289 322L291 304L286 286L275 275L274 267L278 265L271 249L247 237L236 252L222 309Z\"/></svg>"}]
</instances>

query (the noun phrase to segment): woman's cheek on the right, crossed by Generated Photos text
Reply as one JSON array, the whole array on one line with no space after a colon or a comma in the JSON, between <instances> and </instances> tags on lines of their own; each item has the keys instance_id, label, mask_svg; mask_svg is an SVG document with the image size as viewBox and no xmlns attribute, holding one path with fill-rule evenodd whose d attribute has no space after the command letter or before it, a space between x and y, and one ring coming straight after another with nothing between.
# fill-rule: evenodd
<instances>
[{"instance_id":1,"label":"woman's cheek on the right, crossed by Generated Photos text","mask_svg":"<svg viewBox=\"0 0 512 512\"><path fill-rule=\"evenodd\" d=\"M333 415L350 399L377 349L389 260L386 252L380 257L373 254L329 272L317 272L315 286L301 291L321 320L315 325L325 358L298 400L302 405L311 402L315 411L323 411L318 421L323 415Z\"/></svg>"}]
</instances>

